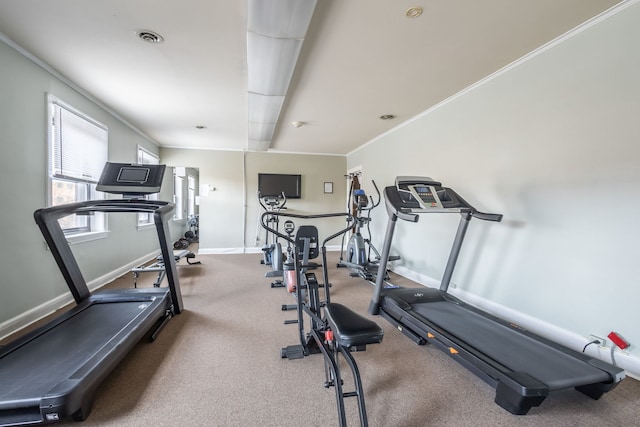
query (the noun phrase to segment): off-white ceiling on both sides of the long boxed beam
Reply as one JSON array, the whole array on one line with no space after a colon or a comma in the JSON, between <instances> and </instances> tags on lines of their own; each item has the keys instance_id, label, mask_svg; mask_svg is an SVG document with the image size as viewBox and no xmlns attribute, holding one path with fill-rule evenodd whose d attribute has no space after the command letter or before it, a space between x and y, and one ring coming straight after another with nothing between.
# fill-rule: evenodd
<instances>
[{"instance_id":1,"label":"off-white ceiling on both sides of the long boxed beam","mask_svg":"<svg viewBox=\"0 0 640 427\"><path fill-rule=\"evenodd\" d=\"M347 154L619 2L318 0L269 151ZM0 0L0 33L160 146L248 147L244 0Z\"/></svg>"}]
</instances>

